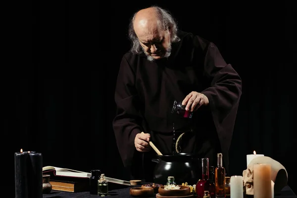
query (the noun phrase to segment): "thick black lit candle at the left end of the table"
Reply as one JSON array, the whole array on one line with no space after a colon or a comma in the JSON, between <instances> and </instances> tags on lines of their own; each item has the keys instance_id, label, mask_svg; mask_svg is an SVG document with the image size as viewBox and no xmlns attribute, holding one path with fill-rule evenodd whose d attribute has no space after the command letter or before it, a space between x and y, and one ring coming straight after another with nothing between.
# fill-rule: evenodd
<instances>
[{"instance_id":1,"label":"thick black lit candle at the left end of the table","mask_svg":"<svg viewBox=\"0 0 297 198\"><path fill-rule=\"evenodd\" d=\"M25 151L14 154L15 198L43 198L42 154Z\"/></svg>"}]
</instances>

